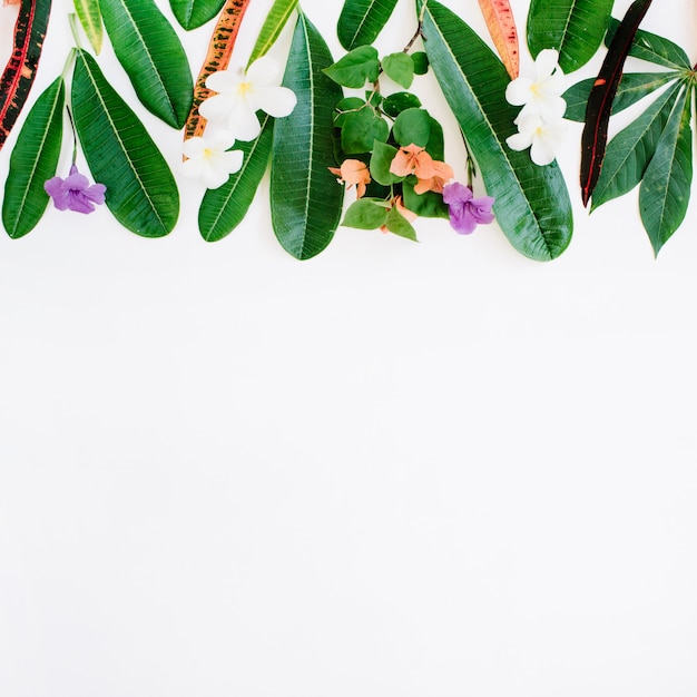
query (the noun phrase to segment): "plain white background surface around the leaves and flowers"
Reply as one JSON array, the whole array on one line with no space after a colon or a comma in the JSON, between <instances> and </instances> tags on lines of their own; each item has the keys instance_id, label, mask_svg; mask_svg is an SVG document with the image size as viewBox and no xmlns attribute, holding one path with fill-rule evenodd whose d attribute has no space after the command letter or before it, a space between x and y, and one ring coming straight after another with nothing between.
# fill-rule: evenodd
<instances>
[{"instance_id":1,"label":"plain white background surface around the leaves and flowers","mask_svg":"<svg viewBox=\"0 0 697 697\"><path fill-rule=\"evenodd\" d=\"M338 56L341 2L303 6ZM413 27L400 0L381 51ZM697 58L693 0L645 27ZM194 71L212 29L184 38ZM432 76L414 89L461 173ZM267 180L213 245L190 184L164 239L106 208L0 236L0 695L694 697L697 204L655 261L636 193L581 208L578 136L550 264L428 220L296 262Z\"/></svg>"}]
</instances>

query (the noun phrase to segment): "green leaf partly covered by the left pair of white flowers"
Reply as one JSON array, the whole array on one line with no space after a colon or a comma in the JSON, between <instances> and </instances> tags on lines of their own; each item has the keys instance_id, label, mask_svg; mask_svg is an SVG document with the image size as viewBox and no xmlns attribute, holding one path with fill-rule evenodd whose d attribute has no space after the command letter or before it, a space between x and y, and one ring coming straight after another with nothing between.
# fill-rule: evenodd
<instances>
[{"instance_id":1,"label":"green leaf partly covered by the left pair of white flowers","mask_svg":"<svg viewBox=\"0 0 697 697\"><path fill-rule=\"evenodd\" d=\"M223 239L244 219L268 167L273 140L274 119L264 116L255 140L235 144L244 154L242 169L219 188L208 189L198 210L198 229L206 242Z\"/></svg>"}]
</instances>

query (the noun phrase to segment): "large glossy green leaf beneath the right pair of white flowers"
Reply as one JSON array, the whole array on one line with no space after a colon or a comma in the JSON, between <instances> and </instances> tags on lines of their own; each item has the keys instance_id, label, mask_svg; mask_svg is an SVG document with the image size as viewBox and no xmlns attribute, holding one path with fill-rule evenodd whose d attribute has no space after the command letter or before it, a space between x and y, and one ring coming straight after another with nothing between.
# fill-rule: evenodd
<instances>
[{"instance_id":1,"label":"large glossy green leaf beneath the right pair of white flowers","mask_svg":"<svg viewBox=\"0 0 697 697\"><path fill-rule=\"evenodd\" d=\"M429 60L497 200L499 226L526 256L548 261L571 240L571 202L556 164L538 167L505 145L518 109L504 97L509 76L489 47L453 12L429 0L424 14Z\"/></svg>"}]
</instances>

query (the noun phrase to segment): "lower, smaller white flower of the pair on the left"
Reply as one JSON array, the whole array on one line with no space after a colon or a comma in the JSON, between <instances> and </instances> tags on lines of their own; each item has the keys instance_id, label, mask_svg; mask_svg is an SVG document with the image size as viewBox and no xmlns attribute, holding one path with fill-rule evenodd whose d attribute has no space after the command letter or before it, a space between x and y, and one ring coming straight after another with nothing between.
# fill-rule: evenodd
<instances>
[{"instance_id":1,"label":"lower, smaller white flower of the pair on the left","mask_svg":"<svg viewBox=\"0 0 697 697\"><path fill-rule=\"evenodd\" d=\"M184 141L181 174L193 179L203 179L209 189L223 186L230 174L242 167L242 150L229 150L235 144L232 134L214 131L212 136L194 136Z\"/></svg>"}]
</instances>

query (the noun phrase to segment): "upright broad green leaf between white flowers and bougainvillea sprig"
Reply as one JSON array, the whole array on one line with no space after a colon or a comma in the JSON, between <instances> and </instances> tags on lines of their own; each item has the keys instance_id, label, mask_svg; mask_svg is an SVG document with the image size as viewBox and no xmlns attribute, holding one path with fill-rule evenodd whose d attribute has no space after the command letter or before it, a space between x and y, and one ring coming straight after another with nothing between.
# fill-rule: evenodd
<instances>
[{"instance_id":1,"label":"upright broad green leaf between white flowers and bougainvillea sprig","mask_svg":"<svg viewBox=\"0 0 697 697\"><path fill-rule=\"evenodd\" d=\"M332 110L342 98L323 69L334 62L324 39L300 13L283 84L297 96L293 114L274 126L271 214L283 247L298 259L320 254L342 213L334 164Z\"/></svg>"}]
</instances>

